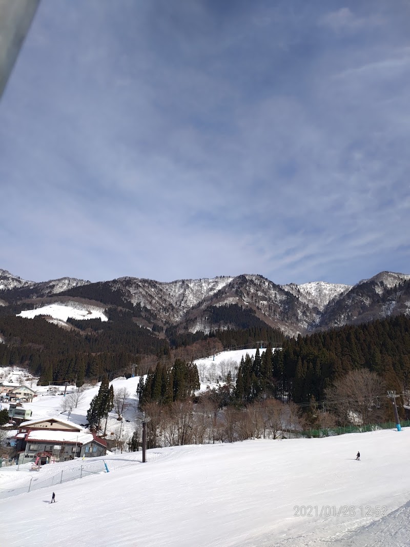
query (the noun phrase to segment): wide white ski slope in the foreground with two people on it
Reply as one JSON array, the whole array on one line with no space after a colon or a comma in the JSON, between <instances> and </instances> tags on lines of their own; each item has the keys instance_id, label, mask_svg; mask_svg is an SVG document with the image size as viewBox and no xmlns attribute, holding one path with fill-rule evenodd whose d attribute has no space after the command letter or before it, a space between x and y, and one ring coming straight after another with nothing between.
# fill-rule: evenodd
<instances>
[{"instance_id":1,"label":"wide white ski slope in the foreground with two people on it","mask_svg":"<svg viewBox=\"0 0 410 547\"><path fill-rule=\"evenodd\" d=\"M135 455L113 455L110 473L1 501L0 538L9 547L410 545L409 449L403 429L154 449L155 459L118 469L115 460Z\"/></svg>"}]
</instances>

